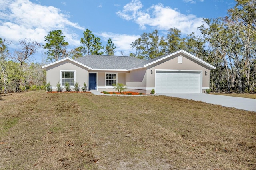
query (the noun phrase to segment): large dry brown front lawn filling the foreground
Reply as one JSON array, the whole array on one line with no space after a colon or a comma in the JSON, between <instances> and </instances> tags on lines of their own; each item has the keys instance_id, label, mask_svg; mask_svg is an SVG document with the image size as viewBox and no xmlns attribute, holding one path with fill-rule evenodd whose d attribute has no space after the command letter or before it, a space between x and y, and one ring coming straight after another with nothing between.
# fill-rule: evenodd
<instances>
[{"instance_id":1,"label":"large dry brown front lawn filling the foreground","mask_svg":"<svg viewBox=\"0 0 256 170\"><path fill-rule=\"evenodd\" d=\"M166 96L1 97L0 169L255 169L256 113Z\"/></svg>"}]
</instances>

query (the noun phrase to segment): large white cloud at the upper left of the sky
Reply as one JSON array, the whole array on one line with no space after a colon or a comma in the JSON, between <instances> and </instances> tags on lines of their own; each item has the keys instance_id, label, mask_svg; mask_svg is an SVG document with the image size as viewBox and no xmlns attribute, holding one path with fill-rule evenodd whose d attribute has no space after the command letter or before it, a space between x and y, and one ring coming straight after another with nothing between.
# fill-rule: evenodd
<instances>
[{"instance_id":1,"label":"large white cloud at the upper left of the sky","mask_svg":"<svg viewBox=\"0 0 256 170\"><path fill-rule=\"evenodd\" d=\"M44 36L49 31L60 29L70 45L77 45L78 35L70 30L84 30L79 24L68 20L70 16L60 9L29 0L1 0L0 10L0 37L13 43L24 38L44 43Z\"/></svg>"}]
</instances>

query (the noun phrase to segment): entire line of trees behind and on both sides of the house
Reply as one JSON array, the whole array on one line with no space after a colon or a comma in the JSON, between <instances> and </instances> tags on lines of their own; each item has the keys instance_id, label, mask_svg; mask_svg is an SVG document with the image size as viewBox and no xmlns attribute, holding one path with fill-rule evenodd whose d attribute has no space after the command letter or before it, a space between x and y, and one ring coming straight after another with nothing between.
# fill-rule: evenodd
<instances>
[{"instance_id":1,"label":"entire line of trees behind and on both sides of the house","mask_svg":"<svg viewBox=\"0 0 256 170\"><path fill-rule=\"evenodd\" d=\"M256 1L236 0L234 8L224 18L204 19L198 27L200 35L190 33L182 36L177 28L170 28L166 35L159 36L158 29L143 33L131 43L136 49L130 56L152 59L184 49L214 65L210 71L212 91L256 91ZM46 72L42 63L31 63L30 56L41 46L47 51L46 61L54 62L84 55L114 55L116 46L109 38L106 47L100 38L88 29L83 32L80 46L67 51L68 42L61 30L48 32L45 44L28 39L20 40L20 47L10 54L10 42L0 38L0 93L17 92L26 89L43 89Z\"/></svg>"}]
</instances>

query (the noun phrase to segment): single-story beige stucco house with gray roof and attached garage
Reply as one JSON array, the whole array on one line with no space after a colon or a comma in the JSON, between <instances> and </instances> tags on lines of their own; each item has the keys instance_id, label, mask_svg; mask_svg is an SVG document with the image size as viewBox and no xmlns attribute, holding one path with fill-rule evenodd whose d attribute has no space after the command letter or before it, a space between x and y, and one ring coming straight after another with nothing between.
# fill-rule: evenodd
<instances>
[{"instance_id":1,"label":"single-story beige stucco house with gray roof and attached garage","mask_svg":"<svg viewBox=\"0 0 256 170\"><path fill-rule=\"evenodd\" d=\"M204 93L210 87L210 70L214 66L184 51L144 60L136 57L88 55L64 58L42 66L46 81L56 91L58 82L68 82L88 90L114 91L112 84L123 83L127 91L156 93Z\"/></svg>"}]
</instances>

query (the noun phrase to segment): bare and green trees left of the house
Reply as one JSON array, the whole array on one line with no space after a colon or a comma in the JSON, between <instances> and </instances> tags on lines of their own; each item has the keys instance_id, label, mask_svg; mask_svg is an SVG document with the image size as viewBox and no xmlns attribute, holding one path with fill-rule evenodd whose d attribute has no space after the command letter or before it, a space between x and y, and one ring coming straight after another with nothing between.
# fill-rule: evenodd
<instances>
[{"instance_id":1,"label":"bare and green trees left of the house","mask_svg":"<svg viewBox=\"0 0 256 170\"><path fill-rule=\"evenodd\" d=\"M44 89L46 71L41 69L43 63L30 62L31 55L41 45L25 38L13 53L8 45L10 42L0 38L0 93Z\"/></svg>"}]
</instances>

